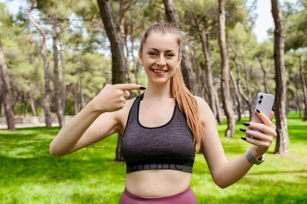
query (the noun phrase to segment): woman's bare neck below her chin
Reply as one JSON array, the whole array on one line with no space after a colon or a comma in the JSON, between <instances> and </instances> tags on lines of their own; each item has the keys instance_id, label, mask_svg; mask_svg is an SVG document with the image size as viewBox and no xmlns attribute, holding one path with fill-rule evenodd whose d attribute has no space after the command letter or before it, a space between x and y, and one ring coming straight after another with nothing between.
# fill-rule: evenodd
<instances>
[{"instance_id":1,"label":"woman's bare neck below her chin","mask_svg":"<svg viewBox=\"0 0 307 204\"><path fill-rule=\"evenodd\" d=\"M150 81L147 83L146 93L143 100L172 98L170 91L170 80L163 84L155 84Z\"/></svg>"}]
</instances>

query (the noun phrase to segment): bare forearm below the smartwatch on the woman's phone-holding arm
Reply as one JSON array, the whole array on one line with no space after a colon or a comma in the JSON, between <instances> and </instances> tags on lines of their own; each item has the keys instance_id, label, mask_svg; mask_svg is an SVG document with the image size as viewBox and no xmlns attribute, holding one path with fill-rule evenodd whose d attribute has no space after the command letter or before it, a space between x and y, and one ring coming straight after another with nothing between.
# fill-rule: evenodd
<instances>
[{"instance_id":1,"label":"bare forearm below the smartwatch on the woman's phone-holding arm","mask_svg":"<svg viewBox=\"0 0 307 204\"><path fill-rule=\"evenodd\" d=\"M256 158L261 156L255 155ZM215 174L214 182L221 188L226 188L236 183L251 169L253 164L246 158L246 152L237 159L226 162Z\"/></svg>"}]
</instances>

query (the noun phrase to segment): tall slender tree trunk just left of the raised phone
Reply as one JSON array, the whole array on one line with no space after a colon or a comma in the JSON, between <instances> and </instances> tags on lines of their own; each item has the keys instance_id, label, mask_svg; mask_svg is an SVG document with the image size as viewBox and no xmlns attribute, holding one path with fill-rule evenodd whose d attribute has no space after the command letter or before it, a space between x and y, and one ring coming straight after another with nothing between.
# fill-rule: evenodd
<instances>
[{"instance_id":1,"label":"tall slender tree trunk just left of the raised phone","mask_svg":"<svg viewBox=\"0 0 307 204\"><path fill-rule=\"evenodd\" d=\"M225 32L225 0L218 0L218 44L221 50L221 93L225 115L227 117L226 137L233 137L235 133L235 117L229 88L229 61L227 56Z\"/></svg>"}]
</instances>

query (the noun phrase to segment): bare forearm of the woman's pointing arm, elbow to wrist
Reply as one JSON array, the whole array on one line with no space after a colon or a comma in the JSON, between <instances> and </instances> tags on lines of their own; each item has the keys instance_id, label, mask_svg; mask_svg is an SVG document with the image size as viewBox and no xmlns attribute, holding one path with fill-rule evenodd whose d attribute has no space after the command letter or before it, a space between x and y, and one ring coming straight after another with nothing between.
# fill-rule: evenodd
<instances>
[{"instance_id":1,"label":"bare forearm of the woman's pointing arm, elbow to wrist","mask_svg":"<svg viewBox=\"0 0 307 204\"><path fill-rule=\"evenodd\" d=\"M50 154L63 156L72 149L90 125L101 115L95 111L91 102L87 104L73 119L67 122L50 143Z\"/></svg>"}]
</instances>

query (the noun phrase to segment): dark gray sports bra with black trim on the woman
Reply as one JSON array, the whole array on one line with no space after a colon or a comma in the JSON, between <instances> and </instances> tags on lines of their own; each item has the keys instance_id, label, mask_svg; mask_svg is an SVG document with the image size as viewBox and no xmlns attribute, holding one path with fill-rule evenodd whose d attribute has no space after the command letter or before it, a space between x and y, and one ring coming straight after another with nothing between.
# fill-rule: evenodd
<instances>
[{"instance_id":1,"label":"dark gray sports bra with black trim on the woman","mask_svg":"<svg viewBox=\"0 0 307 204\"><path fill-rule=\"evenodd\" d=\"M169 122L159 127L145 127L139 121L143 95L135 99L123 134L121 152L126 161L126 173L147 169L192 173L195 144L186 115L176 104Z\"/></svg>"}]
</instances>

